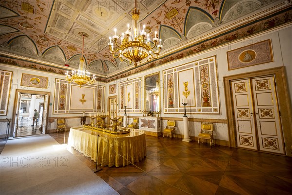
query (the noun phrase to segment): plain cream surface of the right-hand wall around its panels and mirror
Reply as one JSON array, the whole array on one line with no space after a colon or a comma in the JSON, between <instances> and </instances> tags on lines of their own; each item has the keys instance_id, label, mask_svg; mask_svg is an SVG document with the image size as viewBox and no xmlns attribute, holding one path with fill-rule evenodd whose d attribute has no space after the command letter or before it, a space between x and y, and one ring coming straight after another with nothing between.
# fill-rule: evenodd
<instances>
[{"instance_id":1,"label":"plain cream surface of the right-hand wall around its panels and mirror","mask_svg":"<svg viewBox=\"0 0 292 195\"><path fill-rule=\"evenodd\" d=\"M231 75L237 75L237 74L242 74L246 72L254 72L257 70L263 70L263 69L269 69L269 68L274 68L274 67L280 67L280 66L285 66L287 76L288 76L288 85L289 85L289 93L292 95L292 27L291 25L286 26L281 29L276 29L270 32L266 33L261 33L259 35L256 35L252 38L248 39L241 39L239 41L229 43L220 47L213 48L209 51L192 55L189 57L186 57L184 59L180 59L177 61L172 61L169 63L166 63L164 65L161 65L155 69L150 69L147 71L143 71L142 73L137 73L134 75L130 75L125 78L121 78L115 81L111 81L108 83L108 86L111 84L123 82L127 79L134 79L134 78L139 78L142 77L144 79L144 76L155 73L155 72L160 72L160 79L162 79L162 71L174 66L182 65L185 63L189 63L192 61L196 61L199 59L204 59L210 56L216 55L217 58L217 71L218 71L218 79L219 79L219 98L220 98L220 110L221 114L188 114L189 118L200 118L200 119L227 119L227 114L226 114L226 104L225 104L225 92L224 92L224 80L223 77L226 76L231 76ZM250 66L246 68L241 68L241 69L235 69L228 71L228 65L227 65L227 51L234 50L240 47L248 46L250 44L271 39L272 42L272 49L273 49L273 56L274 56L274 62L271 63L266 63L266 64L260 64L256 66ZM111 94L112 95L118 95L119 90L117 89L116 94ZM106 94L108 95L109 90L106 90ZM161 96L163 96L163 91L161 90ZM144 98L144 94L142 96ZM291 96L292 97L292 96ZM118 97L119 98L119 97ZM143 107L144 107L144 99L142 100L143 102ZM163 105L163 99L161 98L161 105ZM142 108L143 110L143 108ZM142 117L142 114L133 114L129 113L128 116L140 116ZM161 108L161 117L177 117L177 118L183 118L183 114L164 114L163 113L163 108ZM164 127L166 126L166 122L163 122ZM229 140L228 137L228 127L227 124L222 124L222 123L215 123L214 124L215 129L214 129L214 137L215 139L220 139L220 140ZM199 131L201 130L201 123L199 122L189 122L189 127L190 127L190 135L191 136L197 136ZM176 134L184 134L183 133L183 121L177 121L176 125Z\"/></svg>"}]
</instances>

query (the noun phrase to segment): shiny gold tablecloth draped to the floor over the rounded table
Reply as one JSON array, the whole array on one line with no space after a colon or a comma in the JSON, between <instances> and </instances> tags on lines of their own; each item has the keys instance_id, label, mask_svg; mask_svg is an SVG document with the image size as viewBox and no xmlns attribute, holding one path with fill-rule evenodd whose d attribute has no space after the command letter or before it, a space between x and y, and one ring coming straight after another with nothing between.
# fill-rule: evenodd
<instances>
[{"instance_id":1,"label":"shiny gold tablecloth draped to the floor over the rounded table","mask_svg":"<svg viewBox=\"0 0 292 195\"><path fill-rule=\"evenodd\" d=\"M70 129L68 146L71 146L96 162L97 132L82 127ZM98 165L128 166L146 156L146 140L141 130L123 135L98 133Z\"/></svg>"}]
</instances>

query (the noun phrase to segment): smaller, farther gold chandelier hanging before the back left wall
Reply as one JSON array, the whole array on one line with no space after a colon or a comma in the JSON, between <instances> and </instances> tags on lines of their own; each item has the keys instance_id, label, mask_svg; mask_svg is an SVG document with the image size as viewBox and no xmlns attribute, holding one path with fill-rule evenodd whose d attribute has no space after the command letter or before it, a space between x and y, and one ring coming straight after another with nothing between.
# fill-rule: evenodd
<instances>
[{"instance_id":1,"label":"smaller, farther gold chandelier hanging before the back left wall","mask_svg":"<svg viewBox=\"0 0 292 195\"><path fill-rule=\"evenodd\" d=\"M83 48L84 48L84 37L88 37L88 34L84 32L79 32L78 33L80 36L83 37L83 43L82 43L82 53L81 53L81 58L80 58L80 63L79 63L79 68L78 72L76 74L76 70L72 71L72 74L69 75L68 71L65 73L65 79L69 82L74 82L78 85L80 85L80 88L84 84L93 84L95 82L95 75L93 77L90 77L90 72L87 70L85 71L85 59L83 57Z\"/></svg>"}]
</instances>

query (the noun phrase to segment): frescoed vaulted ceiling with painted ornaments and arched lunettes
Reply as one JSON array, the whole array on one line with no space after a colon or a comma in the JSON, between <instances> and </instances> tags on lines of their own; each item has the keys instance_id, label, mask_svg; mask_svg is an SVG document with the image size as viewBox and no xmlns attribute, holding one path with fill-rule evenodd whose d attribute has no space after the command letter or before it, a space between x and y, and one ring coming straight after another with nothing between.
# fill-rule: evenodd
<instances>
[{"instance_id":1,"label":"frescoed vaulted ceiling with painted ornaments and arched lunettes","mask_svg":"<svg viewBox=\"0 0 292 195\"><path fill-rule=\"evenodd\" d=\"M138 0L140 24L159 33L164 52L275 0ZM86 32L87 68L105 78L128 63L114 59L109 37L131 24L134 0L1 0L0 50L78 68ZM143 65L143 64L142 64ZM133 66L133 65L132 65Z\"/></svg>"}]
</instances>

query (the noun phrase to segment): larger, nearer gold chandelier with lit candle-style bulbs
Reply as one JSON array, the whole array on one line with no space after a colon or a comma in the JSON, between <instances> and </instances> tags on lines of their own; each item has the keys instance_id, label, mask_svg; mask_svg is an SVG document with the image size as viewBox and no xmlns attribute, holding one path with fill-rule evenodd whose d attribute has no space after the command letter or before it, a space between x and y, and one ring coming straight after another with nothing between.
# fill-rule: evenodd
<instances>
[{"instance_id":1,"label":"larger, nearer gold chandelier with lit candle-style bulbs","mask_svg":"<svg viewBox=\"0 0 292 195\"><path fill-rule=\"evenodd\" d=\"M141 60L146 59L150 61L152 58L157 59L162 49L161 40L156 38L157 32L155 32L155 37L152 39L153 43L150 43L150 35L144 31L145 25L143 25L143 30L140 31L140 22L139 22L139 13L140 10L137 10L137 0L135 0L135 8L133 9L133 20L132 20L132 28L129 31L125 32L126 37L124 37L124 33L122 33L121 43L119 45L117 36L117 30L114 29L115 35L112 36L114 39L114 43L109 42L110 53L114 58L120 58L121 61L127 60L131 63L134 62L135 67L137 67L137 62L141 63ZM145 36L147 35L147 39ZM159 45L157 45L156 51L154 50L156 44L159 40Z\"/></svg>"}]
</instances>

